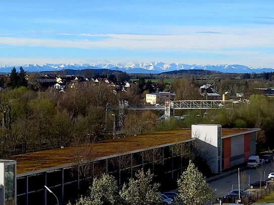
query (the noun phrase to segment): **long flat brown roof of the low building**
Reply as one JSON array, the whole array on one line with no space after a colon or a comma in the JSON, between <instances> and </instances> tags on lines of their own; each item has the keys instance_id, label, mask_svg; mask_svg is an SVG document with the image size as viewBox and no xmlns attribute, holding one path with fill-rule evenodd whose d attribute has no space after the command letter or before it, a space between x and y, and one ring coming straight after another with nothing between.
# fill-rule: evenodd
<instances>
[{"instance_id":1,"label":"long flat brown roof of the low building","mask_svg":"<svg viewBox=\"0 0 274 205\"><path fill-rule=\"evenodd\" d=\"M222 137L244 132L258 131L254 129L222 129ZM75 163L75 156L87 153L92 149L92 158L106 157L155 146L187 141L191 139L191 128L158 131L115 140L106 140L82 147L66 147L27 154L11 156L17 161L17 174L35 172L51 167Z\"/></svg>"}]
</instances>

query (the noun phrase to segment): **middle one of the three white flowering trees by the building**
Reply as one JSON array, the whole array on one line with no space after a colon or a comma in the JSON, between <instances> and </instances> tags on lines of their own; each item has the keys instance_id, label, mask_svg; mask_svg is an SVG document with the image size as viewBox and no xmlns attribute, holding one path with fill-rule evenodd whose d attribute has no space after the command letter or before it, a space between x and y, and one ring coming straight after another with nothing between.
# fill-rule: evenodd
<instances>
[{"instance_id":1,"label":"middle one of the three white flowering trees by the building","mask_svg":"<svg viewBox=\"0 0 274 205\"><path fill-rule=\"evenodd\" d=\"M159 184L153 183L153 174L148 170L140 170L136 180L130 179L128 185L124 184L120 195L127 205L154 205L161 202Z\"/></svg>"}]
</instances>

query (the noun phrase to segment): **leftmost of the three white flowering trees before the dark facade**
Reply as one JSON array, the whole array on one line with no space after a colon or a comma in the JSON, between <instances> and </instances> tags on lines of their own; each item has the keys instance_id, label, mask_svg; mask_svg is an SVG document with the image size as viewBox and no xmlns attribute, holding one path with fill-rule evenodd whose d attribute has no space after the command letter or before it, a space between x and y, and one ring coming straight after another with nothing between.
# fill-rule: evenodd
<instances>
[{"instance_id":1,"label":"leftmost of the three white flowering trees before the dark facade","mask_svg":"<svg viewBox=\"0 0 274 205\"><path fill-rule=\"evenodd\" d=\"M114 176L103 174L94 178L90 187L90 195L81 197L76 205L118 205L120 196L117 181Z\"/></svg>"}]
</instances>

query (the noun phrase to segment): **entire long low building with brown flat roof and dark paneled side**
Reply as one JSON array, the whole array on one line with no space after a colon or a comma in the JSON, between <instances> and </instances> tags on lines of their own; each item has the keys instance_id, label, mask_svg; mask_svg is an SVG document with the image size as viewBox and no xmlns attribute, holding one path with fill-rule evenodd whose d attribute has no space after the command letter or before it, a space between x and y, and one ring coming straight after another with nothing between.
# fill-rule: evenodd
<instances>
[{"instance_id":1,"label":"entire long low building with brown flat roof and dark paneled side","mask_svg":"<svg viewBox=\"0 0 274 205\"><path fill-rule=\"evenodd\" d=\"M162 185L175 184L188 161L182 159L173 148L185 144L208 152L212 158L212 172L221 172L243 163L250 154L256 152L258 130L222 129L221 125L200 124L193 125L191 129L160 131L77 148L13 156L9 161L0 161L0 168L3 169L0 172L3 175L0 176L0 184L3 184L0 205L56 204L56 199L46 191L44 185L56 193L60 204L67 204L88 190L93 177L102 173L112 174L121 187L141 168L150 169L155 180ZM3 178L11 177L6 174L11 173L11 169L5 167L11 164L14 165L14 184L11 178L7 184ZM14 197L5 190L14 190L11 191Z\"/></svg>"}]
</instances>

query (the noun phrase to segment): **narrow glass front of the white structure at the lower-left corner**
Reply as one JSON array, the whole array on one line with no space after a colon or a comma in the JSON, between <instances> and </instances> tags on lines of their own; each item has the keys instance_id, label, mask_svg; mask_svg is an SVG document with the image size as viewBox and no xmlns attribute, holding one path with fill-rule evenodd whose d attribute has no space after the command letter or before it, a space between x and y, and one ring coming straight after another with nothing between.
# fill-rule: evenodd
<instances>
[{"instance_id":1,"label":"narrow glass front of the white structure at the lower-left corner","mask_svg":"<svg viewBox=\"0 0 274 205\"><path fill-rule=\"evenodd\" d=\"M15 205L15 165L5 166L5 205Z\"/></svg>"}]
</instances>

